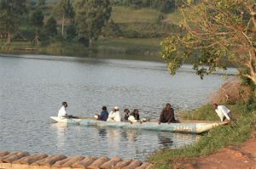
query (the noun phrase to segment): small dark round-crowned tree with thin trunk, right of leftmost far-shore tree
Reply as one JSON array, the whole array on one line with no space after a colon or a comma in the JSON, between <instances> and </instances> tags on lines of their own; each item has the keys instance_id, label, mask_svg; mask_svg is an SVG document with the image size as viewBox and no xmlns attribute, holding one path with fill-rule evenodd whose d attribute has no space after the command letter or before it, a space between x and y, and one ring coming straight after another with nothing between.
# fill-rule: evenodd
<instances>
[{"instance_id":1,"label":"small dark round-crowned tree with thin trunk, right of leftmost far-shore tree","mask_svg":"<svg viewBox=\"0 0 256 169\"><path fill-rule=\"evenodd\" d=\"M35 10L35 12L32 14L31 18L32 24L36 27L36 35L34 42L38 45L39 43L39 35L38 35L38 29L41 28L44 25L44 14L41 9Z\"/></svg>"}]
</instances>

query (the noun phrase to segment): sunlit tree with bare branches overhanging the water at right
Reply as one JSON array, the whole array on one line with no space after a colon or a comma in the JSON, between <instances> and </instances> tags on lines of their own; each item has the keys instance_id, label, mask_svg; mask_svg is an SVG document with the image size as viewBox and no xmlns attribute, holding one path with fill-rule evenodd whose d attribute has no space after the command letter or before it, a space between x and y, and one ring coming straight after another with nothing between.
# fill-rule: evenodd
<instances>
[{"instance_id":1,"label":"sunlit tree with bare branches overhanging the water at right","mask_svg":"<svg viewBox=\"0 0 256 169\"><path fill-rule=\"evenodd\" d=\"M225 69L223 59L256 84L256 4L244 0L204 0L182 9L183 32L166 37L162 59L174 75L189 59L197 75Z\"/></svg>"}]
</instances>

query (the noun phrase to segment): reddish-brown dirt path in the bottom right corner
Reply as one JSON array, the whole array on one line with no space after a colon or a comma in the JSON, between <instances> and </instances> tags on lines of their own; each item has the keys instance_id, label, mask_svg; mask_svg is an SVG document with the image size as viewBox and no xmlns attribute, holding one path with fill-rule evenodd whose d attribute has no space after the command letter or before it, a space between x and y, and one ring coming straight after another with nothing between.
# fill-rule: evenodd
<instances>
[{"instance_id":1,"label":"reddish-brown dirt path in the bottom right corner","mask_svg":"<svg viewBox=\"0 0 256 169\"><path fill-rule=\"evenodd\" d=\"M189 159L177 168L189 169L256 169L256 138L248 140L240 147L219 150L213 155Z\"/></svg>"}]
</instances>

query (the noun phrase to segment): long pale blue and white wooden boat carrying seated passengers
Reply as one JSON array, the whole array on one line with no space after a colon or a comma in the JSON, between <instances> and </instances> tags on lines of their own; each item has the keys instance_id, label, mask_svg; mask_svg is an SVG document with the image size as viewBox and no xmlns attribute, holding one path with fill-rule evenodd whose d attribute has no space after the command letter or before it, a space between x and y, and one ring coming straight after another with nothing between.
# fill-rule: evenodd
<instances>
[{"instance_id":1,"label":"long pale blue and white wooden boat carrying seated passengers","mask_svg":"<svg viewBox=\"0 0 256 169\"><path fill-rule=\"evenodd\" d=\"M96 126L96 127L120 127L128 129L143 129L152 131L166 131L166 132L185 132L185 133L201 133L207 132L212 127L227 124L228 122L186 122L186 123L161 123L158 122L109 122L109 121L97 121L93 119L67 119L51 116L56 122L67 123L67 124L78 124L80 126Z\"/></svg>"}]
</instances>

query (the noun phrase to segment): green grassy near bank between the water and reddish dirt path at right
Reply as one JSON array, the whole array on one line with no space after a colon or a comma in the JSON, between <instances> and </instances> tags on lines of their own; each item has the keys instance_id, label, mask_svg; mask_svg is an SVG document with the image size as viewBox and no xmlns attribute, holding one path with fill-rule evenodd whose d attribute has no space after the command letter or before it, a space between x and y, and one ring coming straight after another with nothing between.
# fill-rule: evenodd
<instances>
[{"instance_id":1,"label":"green grassy near bank between the water and reddish dirt path at right","mask_svg":"<svg viewBox=\"0 0 256 169\"><path fill-rule=\"evenodd\" d=\"M255 113L247 110L244 104L237 104L228 106L232 110L232 115L237 117L236 122L231 122L228 126L215 127L210 132L207 132L197 143L183 147L181 149L160 149L153 155L148 157L148 161L154 163L155 168L172 168L175 162L184 161L189 157L196 157L201 155L209 155L216 150L224 148L229 145L238 145L250 138L251 133L255 130ZM186 116L189 119L197 118L203 115L203 110L209 110L210 105L204 106L195 111L194 115ZM210 110L208 111L210 112ZM206 113L206 114L208 114ZM211 115L208 120L215 120ZM216 115L215 115L216 116Z\"/></svg>"}]
</instances>

